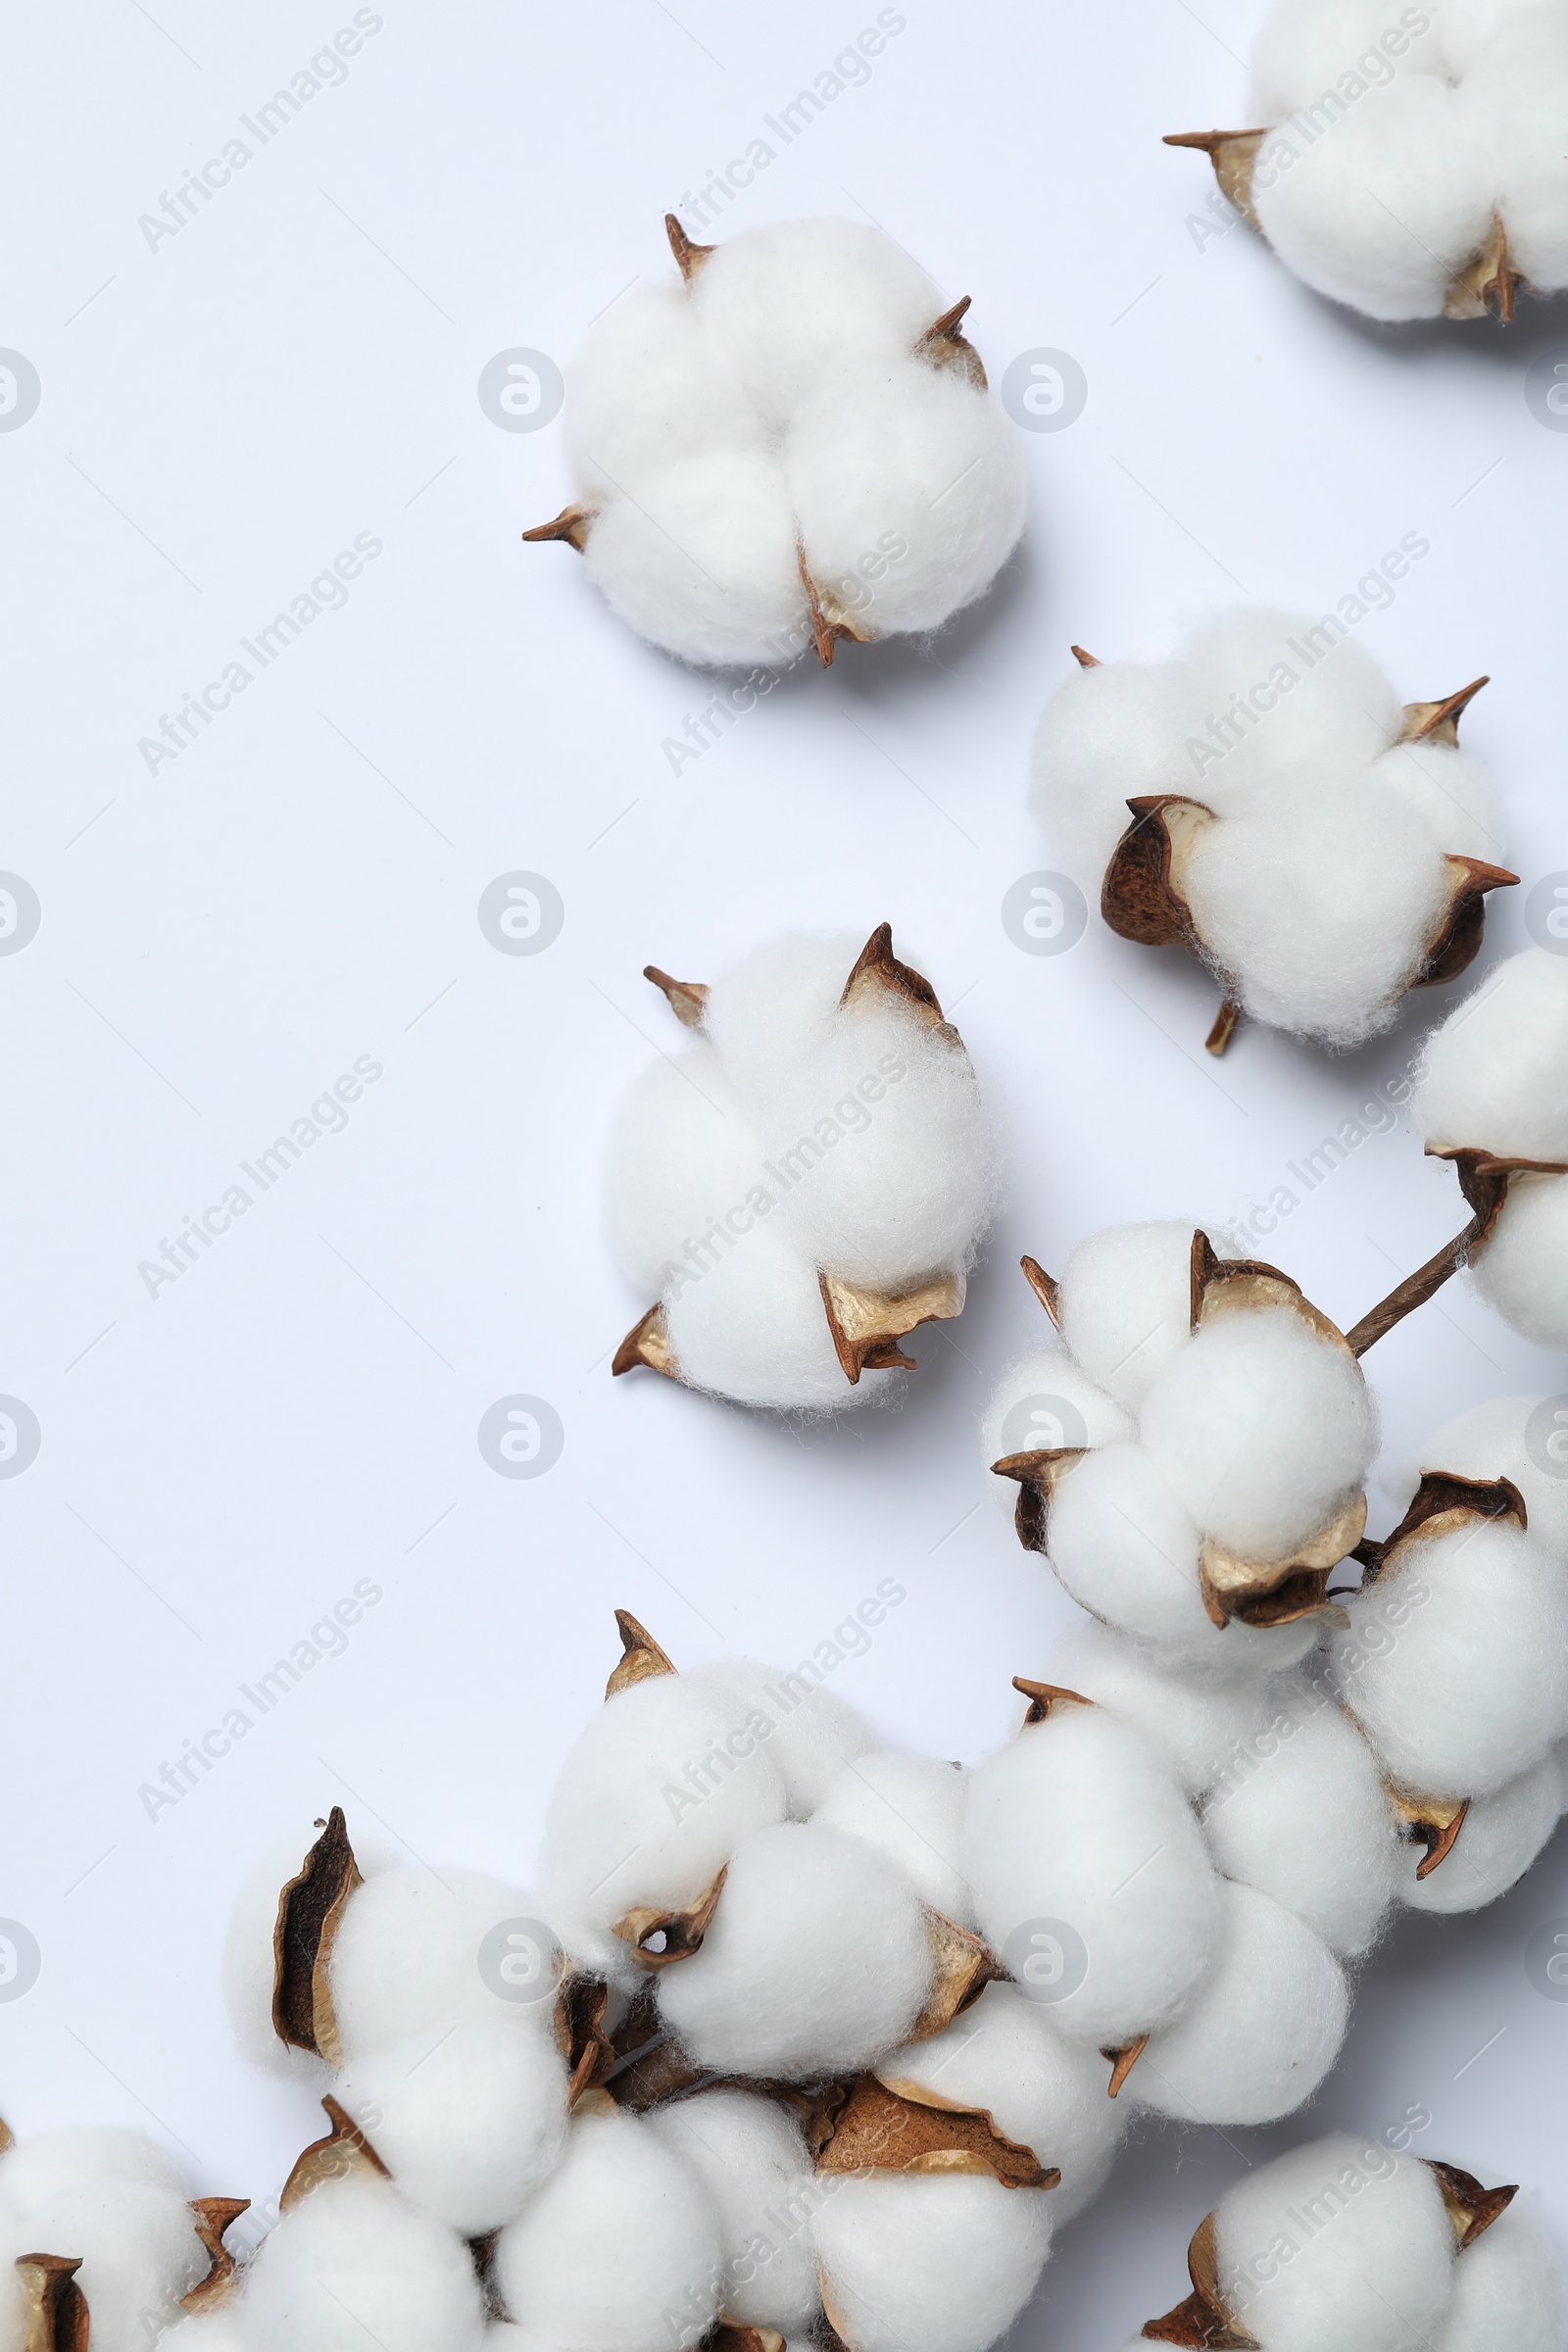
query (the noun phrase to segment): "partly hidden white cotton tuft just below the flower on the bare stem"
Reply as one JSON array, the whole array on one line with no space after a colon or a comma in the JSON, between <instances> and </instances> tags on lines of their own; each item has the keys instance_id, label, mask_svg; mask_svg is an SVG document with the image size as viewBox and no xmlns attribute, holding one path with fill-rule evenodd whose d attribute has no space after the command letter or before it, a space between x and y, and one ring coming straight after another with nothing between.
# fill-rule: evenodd
<instances>
[{"instance_id":1,"label":"partly hidden white cotton tuft just below the flower on the bare stem","mask_svg":"<svg viewBox=\"0 0 1568 2352\"><path fill-rule=\"evenodd\" d=\"M1081 1625L1051 1656L1051 1677L1110 1708L1164 1750L1190 1797L1211 1788L1234 1755L1251 1752L1276 1712L1260 1675L1171 1668L1159 1651L1110 1625Z\"/></svg>"}]
</instances>

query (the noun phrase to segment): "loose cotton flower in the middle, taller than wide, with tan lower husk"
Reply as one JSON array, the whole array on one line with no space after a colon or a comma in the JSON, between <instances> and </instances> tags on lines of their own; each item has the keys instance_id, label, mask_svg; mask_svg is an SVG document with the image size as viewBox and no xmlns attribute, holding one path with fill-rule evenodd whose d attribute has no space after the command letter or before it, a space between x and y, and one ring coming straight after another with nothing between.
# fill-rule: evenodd
<instances>
[{"instance_id":1,"label":"loose cotton flower in the middle, taller than wide, with tan lower husk","mask_svg":"<svg viewBox=\"0 0 1568 2352\"><path fill-rule=\"evenodd\" d=\"M656 1294L618 1374L839 1411L961 1312L994 1192L976 1075L889 927L856 950L778 938L712 988L649 967L696 1042L646 1070L609 1143L611 1249Z\"/></svg>"}]
</instances>

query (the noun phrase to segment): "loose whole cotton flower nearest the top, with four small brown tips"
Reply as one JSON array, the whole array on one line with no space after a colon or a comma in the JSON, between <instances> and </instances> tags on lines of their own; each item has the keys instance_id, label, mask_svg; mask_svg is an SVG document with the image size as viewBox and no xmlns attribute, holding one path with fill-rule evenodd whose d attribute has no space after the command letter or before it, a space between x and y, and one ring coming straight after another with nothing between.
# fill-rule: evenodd
<instances>
[{"instance_id":1,"label":"loose whole cotton flower nearest the top, with four small brown tips","mask_svg":"<svg viewBox=\"0 0 1568 2352\"><path fill-rule=\"evenodd\" d=\"M879 228L778 221L621 296L567 372L564 539L611 609L698 663L940 628L1023 529L969 301Z\"/></svg>"}]
</instances>

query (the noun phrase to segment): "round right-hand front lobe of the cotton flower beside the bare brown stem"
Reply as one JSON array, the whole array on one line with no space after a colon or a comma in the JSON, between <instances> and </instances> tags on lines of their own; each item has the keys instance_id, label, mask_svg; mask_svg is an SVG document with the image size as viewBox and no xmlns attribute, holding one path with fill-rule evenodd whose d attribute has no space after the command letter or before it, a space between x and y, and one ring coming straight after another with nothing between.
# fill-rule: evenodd
<instances>
[{"instance_id":1,"label":"round right-hand front lobe of the cotton flower beside the bare brown stem","mask_svg":"<svg viewBox=\"0 0 1568 2352\"><path fill-rule=\"evenodd\" d=\"M1206 1324L1145 1397L1140 1425L1199 1526L1267 1562L1321 1534L1378 1451L1361 1367L1291 1308Z\"/></svg>"}]
</instances>

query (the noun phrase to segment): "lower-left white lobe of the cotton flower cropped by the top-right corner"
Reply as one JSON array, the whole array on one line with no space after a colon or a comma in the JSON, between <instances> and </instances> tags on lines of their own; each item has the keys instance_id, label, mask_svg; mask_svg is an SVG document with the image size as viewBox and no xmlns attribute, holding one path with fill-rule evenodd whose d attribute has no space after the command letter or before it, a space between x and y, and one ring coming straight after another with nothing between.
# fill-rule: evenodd
<instances>
[{"instance_id":1,"label":"lower-left white lobe of the cotton flower cropped by the top-right corner","mask_svg":"<svg viewBox=\"0 0 1568 2352\"><path fill-rule=\"evenodd\" d=\"M1258 148L1265 238L1309 287L1368 318L1441 318L1493 226L1488 143L1465 92L1406 73L1331 106L1312 143L1286 125Z\"/></svg>"}]
</instances>

